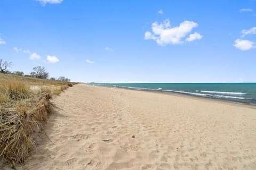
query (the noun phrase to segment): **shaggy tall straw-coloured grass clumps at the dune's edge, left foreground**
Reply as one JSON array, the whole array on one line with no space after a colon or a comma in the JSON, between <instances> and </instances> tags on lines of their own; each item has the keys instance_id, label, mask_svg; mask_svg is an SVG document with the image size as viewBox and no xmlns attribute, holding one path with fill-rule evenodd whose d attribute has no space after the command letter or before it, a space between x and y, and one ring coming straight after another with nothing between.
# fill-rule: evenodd
<instances>
[{"instance_id":1,"label":"shaggy tall straw-coloured grass clumps at the dune's edge, left foreground","mask_svg":"<svg viewBox=\"0 0 256 170\"><path fill-rule=\"evenodd\" d=\"M22 164L35 147L31 134L42 128L51 113L51 96L44 91L35 95L17 83L8 87L12 102L0 107L0 157L2 162L15 165Z\"/></svg>"}]
</instances>

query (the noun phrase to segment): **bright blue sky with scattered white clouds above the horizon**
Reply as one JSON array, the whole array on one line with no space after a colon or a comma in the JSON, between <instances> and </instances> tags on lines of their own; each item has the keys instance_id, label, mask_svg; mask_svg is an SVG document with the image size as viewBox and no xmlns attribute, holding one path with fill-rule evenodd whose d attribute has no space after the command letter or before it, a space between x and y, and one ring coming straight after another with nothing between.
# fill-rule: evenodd
<instances>
[{"instance_id":1,"label":"bright blue sky with scattered white clouds above the horizon","mask_svg":"<svg viewBox=\"0 0 256 170\"><path fill-rule=\"evenodd\" d=\"M256 82L256 1L1 0L0 58L76 82Z\"/></svg>"}]
</instances>

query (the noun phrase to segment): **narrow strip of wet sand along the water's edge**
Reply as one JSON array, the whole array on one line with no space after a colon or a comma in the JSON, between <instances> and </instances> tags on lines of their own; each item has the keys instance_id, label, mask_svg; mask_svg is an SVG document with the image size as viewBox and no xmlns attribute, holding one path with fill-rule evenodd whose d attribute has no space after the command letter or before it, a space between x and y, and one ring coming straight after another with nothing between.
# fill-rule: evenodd
<instances>
[{"instance_id":1,"label":"narrow strip of wet sand along the water's edge","mask_svg":"<svg viewBox=\"0 0 256 170\"><path fill-rule=\"evenodd\" d=\"M92 86L90 84L86 83L81 83L84 84L85 86ZM248 104L248 103L242 103L242 102L235 102L235 101L230 101L230 100L224 100L224 99L216 99L216 98L210 98L210 97L202 97L202 96L194 96L194 95L188 95L188 94L181 94L178 92L165 92L161 90L145 90L145 89L130 89L130 88L122 88L122 87L110 87L110 86L95 86L95 87L106 87L106 88L113 88L113 89L123 89L123 90L132 90L132 91L145 91L145 92L153 92L155 94L164 94L164 95L170 95L170 96L177 96L177 97L185 97L185 98L193 98L193 99L198 99L198 100L209 100L209 101L215 101L219 103L225 103L229 105L235 105L235 106L243 106L247 108L253 108L256 109L256 105L254 104Z\"/></svg>"}]
</instances>

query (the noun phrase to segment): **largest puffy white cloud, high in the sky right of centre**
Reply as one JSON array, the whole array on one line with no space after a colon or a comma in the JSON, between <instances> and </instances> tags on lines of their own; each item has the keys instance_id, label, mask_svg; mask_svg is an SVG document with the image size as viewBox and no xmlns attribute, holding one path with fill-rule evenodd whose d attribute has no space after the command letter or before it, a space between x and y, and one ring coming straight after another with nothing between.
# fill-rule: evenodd
<instances>
[{"instance_id":1,"label":"largest puffy white cloud, high in the sky right of centre","mask_svg":"<svg viewBox=\"0 0 256 170\"><path fill-rule=\"evenodd\" d=\"M153 39L158 45L183 44L182 39L197 26L198 24L193 21L183 21L180 23L179 27L171 27L169 19L164 20L160 24L154 22L152 24L153 33L147 31L145 33L145 39Z\"/></svg>"}]
</instances>

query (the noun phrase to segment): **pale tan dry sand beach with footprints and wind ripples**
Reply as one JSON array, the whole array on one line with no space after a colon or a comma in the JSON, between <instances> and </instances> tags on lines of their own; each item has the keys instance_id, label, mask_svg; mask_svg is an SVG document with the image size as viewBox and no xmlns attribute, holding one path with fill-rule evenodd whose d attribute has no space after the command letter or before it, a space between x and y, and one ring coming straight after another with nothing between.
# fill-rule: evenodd
<instances>
[{"instance_id":1,"label":"pale tan dry sand beach with footprints and wind ripples","mask_svg":"<svg viewBox=\"0 0 256 170\"><path fill-rule=\"evenodd\" d=\"M22 169L256 169L255 108L84 84L53 103Z\"/></svg>"}]
</instances>

